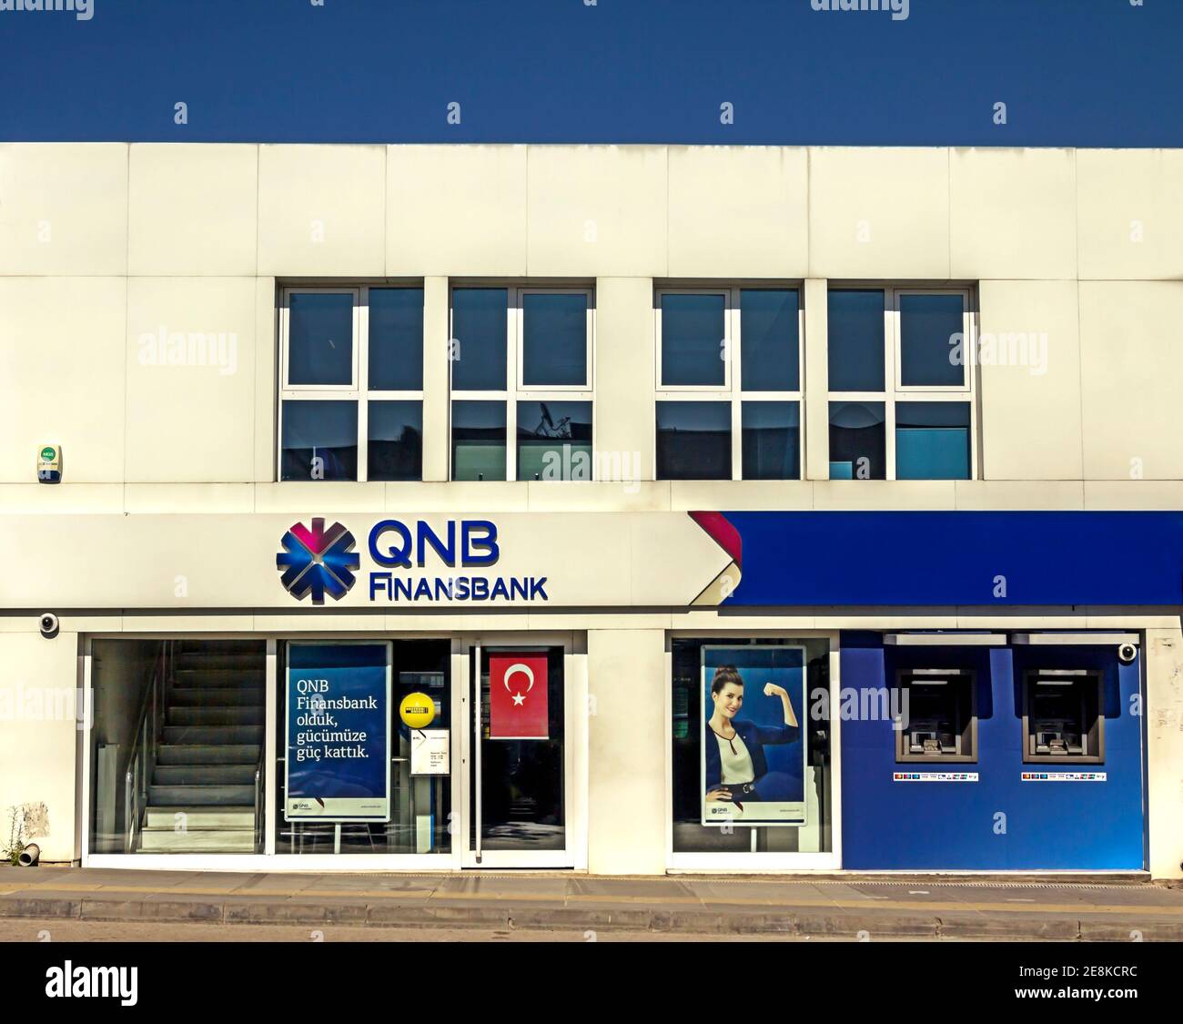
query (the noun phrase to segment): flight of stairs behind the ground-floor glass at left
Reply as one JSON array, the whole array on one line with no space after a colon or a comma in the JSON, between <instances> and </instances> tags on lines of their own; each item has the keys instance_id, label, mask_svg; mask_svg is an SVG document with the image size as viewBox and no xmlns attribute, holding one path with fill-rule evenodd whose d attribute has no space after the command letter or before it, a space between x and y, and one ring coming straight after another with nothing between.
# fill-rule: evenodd
<instances>
[{"instance_id":1,"label":"flight of stairs behind the ground-floor glass at left","mask_svg":"<svg viewBox=\"0 0 1183 1024\"><path fill-rule=\"evenodd\" d=\"M265 677L258 643L174 644L138 852L256 851Z\"/></svg>"}]
</instances>

